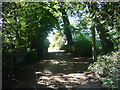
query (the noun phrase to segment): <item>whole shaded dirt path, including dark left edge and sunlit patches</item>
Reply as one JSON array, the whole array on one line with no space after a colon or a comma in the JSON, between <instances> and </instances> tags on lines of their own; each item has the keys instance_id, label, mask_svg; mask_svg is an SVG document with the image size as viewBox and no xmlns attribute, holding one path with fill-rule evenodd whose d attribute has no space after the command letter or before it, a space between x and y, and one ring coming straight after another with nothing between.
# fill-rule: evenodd
<instances>
[{"instance_id":1,"label":"whole shaded dirt path, including dark left edge and sunlit patches","mask_svg":"<svg viewBox=\"0 0 120 90\"><path fill-rule=\"evenodd\" d=\"M19 68L13 76L12 85L6 81L7 86L52 89L101 87L87 72L91 59L74 57L64 52L51 52L46 58Z\"/></svg>"}]
</instances>

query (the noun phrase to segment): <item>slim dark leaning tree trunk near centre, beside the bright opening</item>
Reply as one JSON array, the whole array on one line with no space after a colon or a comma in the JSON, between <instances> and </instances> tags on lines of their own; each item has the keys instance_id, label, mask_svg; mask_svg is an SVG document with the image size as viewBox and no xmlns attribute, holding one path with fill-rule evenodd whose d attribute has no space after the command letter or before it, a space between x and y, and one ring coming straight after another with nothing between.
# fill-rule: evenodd
<instances>
[{"instance_id":1,"label":"slim dark leaning tree trunk near centre, beside the bright opening","mask_svg":"<svg viewBox=\"0 0 120 90\"><path fill-rule=\"evenodd\" d=\"M59 2L60 8L61 8L61 13L62 13L62 18L64 22L64 29L65 29L65 35L68 41L68 45L72 45L72 35L71 35L71 29L70 29L70 22L68 20L67 13L65 11L65 8L63 7L64 2Z\"/></svg>"}]
</instances>

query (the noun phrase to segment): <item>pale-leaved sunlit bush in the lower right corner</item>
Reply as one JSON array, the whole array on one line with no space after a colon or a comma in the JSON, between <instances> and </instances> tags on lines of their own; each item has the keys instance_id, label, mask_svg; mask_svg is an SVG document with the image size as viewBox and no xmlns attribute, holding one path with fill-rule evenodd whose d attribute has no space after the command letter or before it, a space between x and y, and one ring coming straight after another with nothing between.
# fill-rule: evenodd
<instances>
[{"instance_id":1,"label":"pale-leaved sunlit bush in the lower right corner","mask_svg":"<svg viewBox=\"0 0 120 90\"><path fill-rule=\"evenodd\" d=\"M89 66L95 77L108 88L118 88L118 52L99 56L98 60Z\"/></svg>"}]
</instances>

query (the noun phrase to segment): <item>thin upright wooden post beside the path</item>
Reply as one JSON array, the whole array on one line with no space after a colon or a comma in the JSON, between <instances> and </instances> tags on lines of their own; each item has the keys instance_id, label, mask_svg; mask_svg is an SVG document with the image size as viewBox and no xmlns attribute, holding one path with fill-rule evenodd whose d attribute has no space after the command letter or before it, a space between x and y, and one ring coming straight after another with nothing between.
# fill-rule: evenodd
<instances>
[{"instance_id":1,"label":"thin upright wooden post beside the path","mask_svg":"<svg viewBox=\"0 0 120 90\"><path fill-rule=\"evenodd\" d=\"M95 27L91 27L92 31L92 58L93 60L97 60L96 56L96 38L95 38Z\"/></svg>"}]
</instances>

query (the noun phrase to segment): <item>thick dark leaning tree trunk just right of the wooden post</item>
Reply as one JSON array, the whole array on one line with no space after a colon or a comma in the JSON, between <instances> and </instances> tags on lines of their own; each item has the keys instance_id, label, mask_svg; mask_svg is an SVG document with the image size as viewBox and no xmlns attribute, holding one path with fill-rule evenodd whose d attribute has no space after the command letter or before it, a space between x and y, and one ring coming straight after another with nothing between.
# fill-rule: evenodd
<instances>
[{"instance_id":1,"label":"thick dark leaning tree trunk just right of the wooden post","mask_svg":"<svg viewBox=\"0 0 120 90\"><path fill-rule=\"evenodd\" d=\"M91 3L91 4L88 3L88 9L92 16L91 18L96 23L95 27L100 36L103 53L108 53L108 52L114 50L114 44L109 37L110 35L108 34L109 31L101 23L102 16L99 14L99 13L101 13L101 11L99 10L97 3Z\"/></svg>"}]
</instances>

